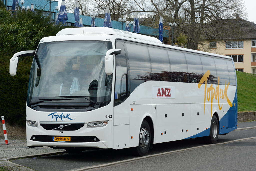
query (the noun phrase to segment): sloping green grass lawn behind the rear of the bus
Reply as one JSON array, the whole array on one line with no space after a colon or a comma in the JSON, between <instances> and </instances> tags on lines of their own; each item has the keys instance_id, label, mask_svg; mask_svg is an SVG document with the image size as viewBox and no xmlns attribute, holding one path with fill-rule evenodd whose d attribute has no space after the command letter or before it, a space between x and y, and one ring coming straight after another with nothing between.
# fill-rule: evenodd
<instances>
[{"instance_id":1,"label":"sloping green grass lawn behind the rear of the bus","mask_svg":"<svg viewBox=\"0 0 256 171\"><path fill-rule=\"evenodd\" d=\"M238 112L256 111L256 74L236 72Z\"/></svg>"}]
</instances>

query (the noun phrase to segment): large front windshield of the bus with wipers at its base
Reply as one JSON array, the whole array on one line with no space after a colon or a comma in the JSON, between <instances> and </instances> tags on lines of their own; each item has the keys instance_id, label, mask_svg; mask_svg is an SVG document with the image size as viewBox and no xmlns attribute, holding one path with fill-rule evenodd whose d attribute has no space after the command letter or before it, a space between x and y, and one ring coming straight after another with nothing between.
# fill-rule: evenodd
<instances>
[{"instance_id":1,"label":"large front windshield of the bus with wipers at its base","mask_svg":"<svg viewBox=\"0 0 256 171\"><path fill-rule=\"evenodd\" d=\"M40 43L30 71L28 106L39 111L79 106L84 111L109 104L112 75L104 68L109 49L112 43L105 41Z\"/></svg>"}]
</instances>

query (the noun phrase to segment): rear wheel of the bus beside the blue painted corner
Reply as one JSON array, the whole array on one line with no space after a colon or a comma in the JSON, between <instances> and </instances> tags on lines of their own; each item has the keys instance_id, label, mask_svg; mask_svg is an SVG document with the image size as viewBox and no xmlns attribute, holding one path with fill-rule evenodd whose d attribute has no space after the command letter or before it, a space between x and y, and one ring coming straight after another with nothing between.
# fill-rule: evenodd
<instances>
[{"instance_id":1,"label":"rear wheel of the bus beside the blue painted corner","mask_svg":"<svg viewBox=\"0 0 256 171\"><path fill-rule=\"evenodd\" d=\"M205 137L205 142L207 144L215 144L218 140L218 136L219 136L219 122L217 117L213 115L211 119L210 135Z\"/></svg>"}]
</instances>

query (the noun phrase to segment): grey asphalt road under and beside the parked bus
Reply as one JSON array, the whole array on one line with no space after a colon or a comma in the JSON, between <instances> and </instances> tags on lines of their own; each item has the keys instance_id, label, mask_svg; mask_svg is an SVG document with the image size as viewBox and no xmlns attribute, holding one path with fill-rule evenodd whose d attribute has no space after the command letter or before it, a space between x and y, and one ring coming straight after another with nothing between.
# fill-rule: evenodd
<instances>
[{"instance_id":1,"label":"grey asphalt road under and beside the parked bus","mask_svg":"<svg viewBox=\"0 0 256 171\"><path fill-rule=\"evenodd\" d=\"M245 125L245 126L244 126ZM256 126L256 122L239 123L239 127ZM256 137L256 129L232 131L227 135L219 135L217 143L228 142L242 138ZM147 155L157 154L205 144L195 139L179 140L154 144ZM256 170L256 139L216 144L191 150L175 152L167 155L136 160L118 165L112 165L99 170ZM78 169L111 162L133 159L129 149L84 151L80 155L60 154L46 157L14 160L22 166L38 171L63 171Z\"/></svg>"}]
</instances>

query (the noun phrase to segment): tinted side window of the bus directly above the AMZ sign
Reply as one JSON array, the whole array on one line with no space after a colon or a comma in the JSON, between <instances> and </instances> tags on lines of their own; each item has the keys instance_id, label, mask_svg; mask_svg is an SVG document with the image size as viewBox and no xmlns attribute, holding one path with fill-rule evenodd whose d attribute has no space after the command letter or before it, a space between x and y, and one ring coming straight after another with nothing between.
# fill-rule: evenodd
<instances>
[{"instance_id":1,"label":"tinted side window of the bus directly above the AMZ sign","mask_svg":"<svg viewBox=\"0 0 256 171\"><path fill-rule=\"evenodd\" d=\"M148 47L152 65L152 80L171 81L171 68L167 50Z\"/></svg>"}]
</instances>

